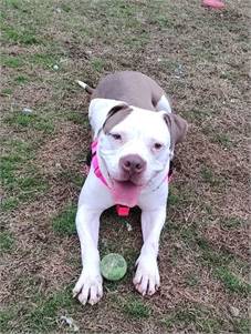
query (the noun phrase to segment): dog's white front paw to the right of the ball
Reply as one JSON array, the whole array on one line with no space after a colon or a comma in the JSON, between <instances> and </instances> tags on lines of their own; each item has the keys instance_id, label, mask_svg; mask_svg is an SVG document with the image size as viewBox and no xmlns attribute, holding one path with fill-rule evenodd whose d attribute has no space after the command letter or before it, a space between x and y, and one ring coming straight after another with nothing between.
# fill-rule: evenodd
<instances>
[{"instance_id":1,"label":"dog's white front paw to the right of the ball","mask_svg":"<svg viewBox=\"0 0 251 334\"><path fill-rule=\"evenodd\" d=\"M155 257L140 255L136 262L137 270L134 277L135 289L142 294L153 295L159 287L160 279Z\"/></svg>"}]
</instances>

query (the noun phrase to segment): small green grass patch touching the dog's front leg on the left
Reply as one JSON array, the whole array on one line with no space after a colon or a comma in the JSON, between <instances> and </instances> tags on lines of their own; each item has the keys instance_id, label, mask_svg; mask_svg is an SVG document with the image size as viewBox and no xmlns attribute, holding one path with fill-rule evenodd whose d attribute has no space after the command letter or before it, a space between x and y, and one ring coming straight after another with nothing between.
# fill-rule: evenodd
<instances>
[{"instance_id":1,"label":"small green grass patch touching the dog's front leg on the left","mask_svg":"<svg viewBox=\"0 0 251 334\"><path fill-rule=\"evenodd\" d=\"M75 229L76 205L69 204L57 216L53 219L53 230L60 235L73 235Z\"/></svg>"}]
</instances>

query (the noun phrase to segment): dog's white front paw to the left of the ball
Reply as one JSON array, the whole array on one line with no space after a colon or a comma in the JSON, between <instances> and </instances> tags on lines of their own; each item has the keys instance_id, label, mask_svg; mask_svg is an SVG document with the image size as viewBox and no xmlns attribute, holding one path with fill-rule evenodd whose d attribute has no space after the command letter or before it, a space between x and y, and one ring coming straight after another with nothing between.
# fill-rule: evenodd
<instances>
[{"instance_id":1,"label":"dog's white front paw to the left of the ball","mask_svg":"<svg viewBox=\"0 0 251 334\"><path fill-rule=\"evenodd\" d=\"M79 295L77 298L83 305L87 302L91 305L96 304L103 296L101 274L82 270L81 276L73 289L73 296L76 295Z\"/></svg>"}]
</instances>

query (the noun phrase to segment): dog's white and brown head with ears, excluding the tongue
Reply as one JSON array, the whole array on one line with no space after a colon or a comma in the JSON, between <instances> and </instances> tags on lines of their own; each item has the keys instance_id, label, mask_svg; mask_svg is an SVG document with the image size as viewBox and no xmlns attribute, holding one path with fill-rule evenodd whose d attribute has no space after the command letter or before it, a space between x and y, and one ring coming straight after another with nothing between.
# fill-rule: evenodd
<instances>
[{"instance_id":1,"label":"dog's white and brown head with ears, excluding the tongue","mask_svg":"<svg viewBox=\"0 0 251 334\"><path fill-rule=\"evenodd\" d=\"M100 158L113 184L144 188L165 171L187 123L165 112L119 104L100 134Z\"/></svg>"}]
</instances>

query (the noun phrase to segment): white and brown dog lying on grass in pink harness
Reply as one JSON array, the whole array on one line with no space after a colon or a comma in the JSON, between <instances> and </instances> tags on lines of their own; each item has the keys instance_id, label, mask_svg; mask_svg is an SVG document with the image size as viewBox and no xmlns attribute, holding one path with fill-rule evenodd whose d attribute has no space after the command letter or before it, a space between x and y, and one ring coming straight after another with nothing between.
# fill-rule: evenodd
<instances>
[{"instance_id":1,"label":"white and brown dog lying on grass in pink harness","mask_svg":"<svg viewBox=\"0 0 251 334\"><path fill-rule=\"evenodd\" d=\"M188 124L171 112L164 90L143 73L115 72L96 89L77 82L92 94L93 156L76 213L83 269L73 295L92 305L103 296L100 216L115 204L122 215L135 205L142 210L144 242L133 283L142 295L153 295L160 285L157 254L166 221L170 161Z\"/></svg>"}]
</instances>

